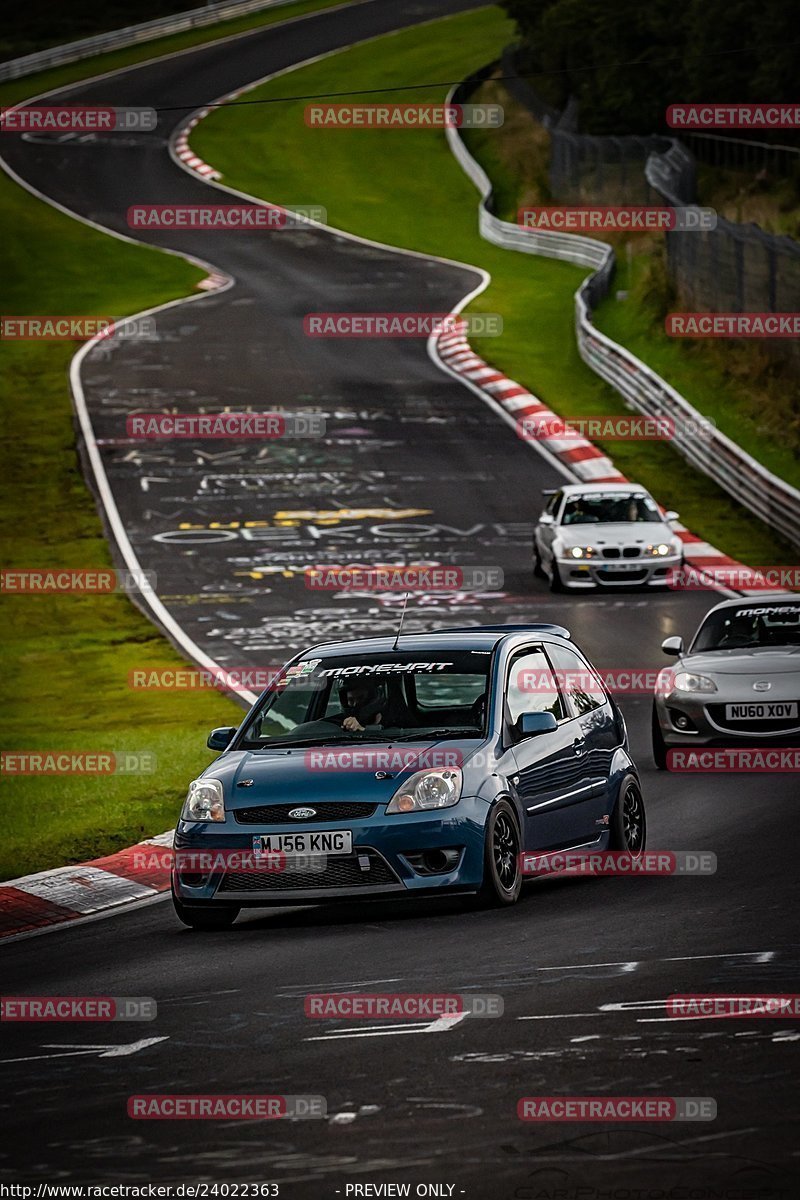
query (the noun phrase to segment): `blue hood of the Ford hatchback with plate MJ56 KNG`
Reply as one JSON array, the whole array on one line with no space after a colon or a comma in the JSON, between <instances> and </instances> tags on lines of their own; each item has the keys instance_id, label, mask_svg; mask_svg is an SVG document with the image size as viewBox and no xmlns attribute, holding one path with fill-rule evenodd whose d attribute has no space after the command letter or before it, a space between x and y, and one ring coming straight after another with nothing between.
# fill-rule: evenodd
<instances>
[{"instance_id":1,"label":"blue hood of the Ford hatchback with plate MJ56 KNG","mask_svg":"<svg viewBox=\"0 0 800 1200\"><path fill-rule=\"evenodd\" d=\"M225 806L312 804L325 800L389 803L422 767L459 767L483 744L475 739L371 742L297 749L234 750L206 768L222 781ZM389 778L377 779L377 772ZM252 780L246 784L246 780Z\"/></svg>"}]
</instances>

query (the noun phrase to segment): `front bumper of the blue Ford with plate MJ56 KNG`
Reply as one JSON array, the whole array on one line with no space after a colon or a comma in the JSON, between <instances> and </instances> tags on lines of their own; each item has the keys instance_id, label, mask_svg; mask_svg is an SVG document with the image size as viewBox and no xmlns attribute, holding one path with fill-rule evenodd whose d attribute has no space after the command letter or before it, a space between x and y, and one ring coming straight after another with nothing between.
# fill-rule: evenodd
<instances>
[{"instance_id":1,"label":"front bumper of the blue Ford with plate MJ56 KNG","mask_svg":"<svg viewBox=\"0 0 800 1200\"><path fill-rule=\"evenodd\" d=\"M327 856L309 868L245 869L235 865L206 872L173 870L173 888L184 904L213 901L242 907L321 904L379 896L476 892L483 880L483 829L489 805L465 798L440 814L385 815L355 821L314 821L314 829L351 829L353 853ZM240 852L252 866L253 838L297 833L302 826L241 826L233 812L223 822L181 821L175 850L203 852L212 860ZM446 858L443 852L449 852ZM180 864L180 856L179 856ZM192 865L194 865L192 863ZM441 865L443 869L429 868ZM323 868L320 870L320 866Z\"/></svg>"}]
</instances>

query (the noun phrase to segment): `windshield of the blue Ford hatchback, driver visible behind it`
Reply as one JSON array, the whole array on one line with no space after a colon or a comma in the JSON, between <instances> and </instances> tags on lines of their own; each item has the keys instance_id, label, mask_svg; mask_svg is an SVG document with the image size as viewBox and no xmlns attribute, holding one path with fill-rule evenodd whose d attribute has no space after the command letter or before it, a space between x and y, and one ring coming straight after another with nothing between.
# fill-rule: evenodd
<instances>
[{"instance_id":1,"label":"windshield of the blue Ford hatchback, driver visible behind it","mask_svg":"<svg viewBox=\"0 0 800 1200\"><path fill-rule=\"evenodd\" d=\"M309 654L275 680L239 745L479 738L489 660L488 650Z\"/></svg>"}]
</instances>

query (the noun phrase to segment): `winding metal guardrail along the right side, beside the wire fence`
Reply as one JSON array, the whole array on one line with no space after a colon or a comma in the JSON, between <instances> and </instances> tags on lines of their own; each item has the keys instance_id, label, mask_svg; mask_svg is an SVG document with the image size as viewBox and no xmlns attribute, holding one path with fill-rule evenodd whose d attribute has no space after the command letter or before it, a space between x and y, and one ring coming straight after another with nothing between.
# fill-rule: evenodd
<instances>
[{"instance_id":1,"label":"winding metal guardrail along the right side, beside the wire fence","mask_svg":"<svg viewBox=\"0 0 800 1200\"><path fill-rule=\"evenodd\" d=\"M491 70L492 67L487 67L452 88L446 102L464 103L476 83L486 78ZM615 388L631 408L648 416L672 418L676 431L673 444L686 461L782 534L793 546L800 547L800 491L762 467L718 430L710 430L703 439L682 432L686 426L697 428L704 425L703 415L634 354L593 325L593 308L610 287L614 272L613 248L594 238L524 229L509 221L500 221L491 211L492 181L488 175L473 158L455 126L446 128L446 137L459 166L481 193L479 229L482 238L505 250L594 268L594 274L583 281L575 294L576 337L578 352L587 366Z\"/></svg>"}]
</instances>

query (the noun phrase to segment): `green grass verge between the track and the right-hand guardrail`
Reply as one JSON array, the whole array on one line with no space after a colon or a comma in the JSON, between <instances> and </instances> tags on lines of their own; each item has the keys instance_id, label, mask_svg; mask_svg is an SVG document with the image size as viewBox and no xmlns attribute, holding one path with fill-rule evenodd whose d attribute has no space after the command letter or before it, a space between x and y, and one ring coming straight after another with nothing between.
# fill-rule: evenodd
<instances>
[{"instance_id":1,"label":"green grass verge between the track and the right-hand guardrail","mask_svg":"<svg viewBox=\"0 0 800 1200\"><path fill-rule=\"evenodd\" d=\"M407 30L329 56L293 73L293 91L325 94L409 88L425 79L458 79L497 56L513 35L499 8L482 8ZM278 96L277 78L248 94L251 101ZM429 89L398 94L404 102L431 101ZM324 204L329 222L378 241L483 266L492 284L473 304L498 312L504 334L475 338L476 350L527 384L565 416L624 413L621 398L579 359L573 293L581 268L483 241L477 232L477 193L437 131L312 130L303 103L216 109L194 131L193 149L218 167L231 186L290 204L296 196ZM476 136L471 145L493 173L501 166L500 134ZM495 140L498 139L498 140ZM494 148L493 156L488 152ZM368 164L368 168L366 168ZM506 187L512 170L505 164ZM534 185L531 185L533 187ZM487 414L487 420L493 420ZM792 551L762 522L662 443L612 443L604 449L620 470L650 487L698 534L744 562L792 560Z\"/></svg>"}]
</instances>

